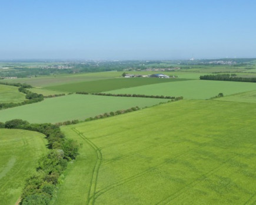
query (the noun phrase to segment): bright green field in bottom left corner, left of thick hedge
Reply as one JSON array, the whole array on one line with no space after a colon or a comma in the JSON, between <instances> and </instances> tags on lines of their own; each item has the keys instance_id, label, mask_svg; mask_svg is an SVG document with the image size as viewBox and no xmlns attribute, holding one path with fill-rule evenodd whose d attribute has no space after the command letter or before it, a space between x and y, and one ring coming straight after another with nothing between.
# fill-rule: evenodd
<instances>
[{"instance_id":1,"label":"bright green field in bottom left corner, left of thick hedge","mask_svg":"<svg viewBox=\"0 0 256 205\"><path fill-rule=\"evenodd\" d=\"M38 132L0 129L0 204L18 201L25 179L46 151L46 139Z\"/></svg>"}]
</instances>

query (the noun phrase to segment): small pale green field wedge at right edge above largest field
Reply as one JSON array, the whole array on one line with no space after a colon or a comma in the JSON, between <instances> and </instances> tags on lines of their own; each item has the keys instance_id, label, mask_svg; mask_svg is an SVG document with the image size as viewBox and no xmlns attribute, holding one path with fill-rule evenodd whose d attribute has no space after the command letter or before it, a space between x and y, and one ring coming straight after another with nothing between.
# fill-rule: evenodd
<instances>
[{"instance_id":1,"label":"small pale green field wedge at right edge above largest field","mask_svg":"<svg viewBox=\"0 0 256 205\"><path fill-rule=\"evenodd\" d=\"M248 92L244 92L244 93L238 93L238 94L234 94L234 95L228 95L226 97L216 98L215 100L256 103L256 90L248 91Z\"/></svg>"}]
</instances>

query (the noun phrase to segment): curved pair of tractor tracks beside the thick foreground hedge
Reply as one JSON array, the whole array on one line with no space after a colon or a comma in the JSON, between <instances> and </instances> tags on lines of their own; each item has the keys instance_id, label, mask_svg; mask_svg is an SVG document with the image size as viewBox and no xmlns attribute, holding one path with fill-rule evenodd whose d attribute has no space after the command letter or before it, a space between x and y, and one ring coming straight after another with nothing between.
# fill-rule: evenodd
<instances>
[{"instance_id":1,"label":"curved pair of tractor tracks beside the thick foreground hedge","mask_svg":"<svg viewBox=\"0 0 256 205\"><path fill-rule=\"evenodd\" d=\"M81 136L84 141L86 141L92 149L94 149L95 155L97 156L97 161L95 162L94 169L92 170L92 178L90 182L90 189L88 192L87 197L87 205L93 205L95 203L95 192L96 192L96 186L97 186L97 180L98 180L98 173L99 173L99 167L101 166L102 161L102 153L100 149L91 142L87 137L85 137L82 132L79 132L77 129L72 128L74 132L76 132L79 136Z\"/></svg>"}]
</instances>

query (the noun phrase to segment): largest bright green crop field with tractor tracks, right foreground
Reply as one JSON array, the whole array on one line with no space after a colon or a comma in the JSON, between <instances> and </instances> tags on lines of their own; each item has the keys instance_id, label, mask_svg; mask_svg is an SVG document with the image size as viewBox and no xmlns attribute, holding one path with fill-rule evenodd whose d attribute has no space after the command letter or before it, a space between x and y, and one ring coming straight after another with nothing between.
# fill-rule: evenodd
<instances>
[{"instance_id":1,"label":"largest bright green crop field with tractor tracks, right foreground","mask_svg":"<svg viewBox=\"0 0 256 205\"><path fill-rule=\"evenodd\" d=\"M256 107L182 100L62 127L82 143L55 204L254 204Z\"/></svg>"}]
</instances>

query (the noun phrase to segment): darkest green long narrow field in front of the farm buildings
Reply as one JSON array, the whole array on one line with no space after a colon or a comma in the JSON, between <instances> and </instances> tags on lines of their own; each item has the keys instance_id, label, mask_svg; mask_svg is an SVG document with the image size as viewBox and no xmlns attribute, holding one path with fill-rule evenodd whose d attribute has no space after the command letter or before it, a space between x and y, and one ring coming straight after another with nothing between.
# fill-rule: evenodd
<instances>
[{"instance_id":1,"label":"darkest green long narrow field in front of the farm buildings","mask_svg":"<svg viewBox=\"0 0 256 205\"><path fill-rule=\"evenodd\" d=\"M85 91L88 93L99 93L102 91L116 90L121 88L144 86L147 84L157 84L166 82L183 81L179 78L115 78L108 80L97 80L61 86L46 87L49 90L76 92Z\"/></svg>"}]
</instances>

